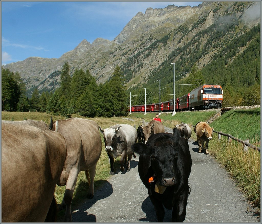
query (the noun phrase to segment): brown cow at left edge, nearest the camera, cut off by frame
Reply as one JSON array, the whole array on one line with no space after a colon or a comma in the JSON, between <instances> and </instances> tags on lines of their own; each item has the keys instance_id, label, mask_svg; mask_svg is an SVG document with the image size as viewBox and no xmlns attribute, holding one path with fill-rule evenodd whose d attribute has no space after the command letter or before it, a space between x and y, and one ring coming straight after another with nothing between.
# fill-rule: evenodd
<instances>
[{"instance_id":1,"label":"brown cow at left edge, nearest the camera, cut off by frame","mask_svg":"<svg viewBox=\"0 0 262 224\"><path fill-rule=\"evenodd\" d=\"M67 154L65 139L41 121L1 124L1 221L44 222L51 203L56 209L54 191Z\"/></svg>"}]
</instances>

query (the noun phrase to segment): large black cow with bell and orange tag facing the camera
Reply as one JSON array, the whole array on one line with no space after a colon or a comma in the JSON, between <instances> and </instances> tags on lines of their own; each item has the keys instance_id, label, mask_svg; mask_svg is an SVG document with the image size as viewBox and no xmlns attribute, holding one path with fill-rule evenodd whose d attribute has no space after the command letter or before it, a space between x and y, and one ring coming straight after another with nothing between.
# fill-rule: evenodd
<instances>
[{"instance_id":1,"label":"large black cow with bell and orange tag facing the camera","mask_svg":"<svg viewBox=\"0 0 262 224\"><path fill-rule=\"evenodd\" d=\"M172 222L183 222L190 194L192 160L188 142L177 128L173 133L152 134L146 144L138 142L132 146L133 152L140 155L139 176L148 188L158 222L164 220L163 206L173 209Z\"/></svg>"}]
</instances>

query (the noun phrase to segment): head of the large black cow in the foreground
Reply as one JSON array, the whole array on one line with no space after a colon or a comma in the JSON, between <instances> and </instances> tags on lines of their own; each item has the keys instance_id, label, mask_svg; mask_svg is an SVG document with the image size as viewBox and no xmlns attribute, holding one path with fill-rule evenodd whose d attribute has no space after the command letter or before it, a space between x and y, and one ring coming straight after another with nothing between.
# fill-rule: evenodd
<instances>
[{"instance_id":1,"label":"head of the large black cow in the foreground","mask_svg":"<svg viewBox=\"0 0 262 224\"><path fill-rule=\"evenodd\" d=\"M180 132L177 128L171 133L157 133L151 135L146 144L135 143L132 150L143 158L150 158L151 168L155 172L156 181L161 186L178 184ZM146 161L146 160L145 160ZM148 164L150 166L150 164Z\"/></svg>"}]
</instances>

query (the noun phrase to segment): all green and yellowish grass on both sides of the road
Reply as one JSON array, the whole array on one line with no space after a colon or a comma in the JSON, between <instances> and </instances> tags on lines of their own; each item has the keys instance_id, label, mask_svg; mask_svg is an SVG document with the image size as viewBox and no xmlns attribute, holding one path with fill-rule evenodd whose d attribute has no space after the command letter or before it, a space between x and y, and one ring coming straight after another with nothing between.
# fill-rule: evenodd
<instances>
[{"instance_id":1,"label":"all green and yellowish grass on both sides of the road","mask_svg":"<svg viewBox=\"0 0 262 224\"><path fill-rule=\"evenodd\" d=\"M177 112L174 116L172 113L161 113L159 116L164 126L173 128L178 123L187 123L195 125L198 121L207 121L216 114L216 111L190 111L190 112ZM114 117L114 118L88 118L94 120L102 128L108 128L114 124L130 124L135 126L141 125L143 120L149 122L155 116L155 113L132 113L127 117ZM72 117L81 117L78 114L73 114ZM84 117L81 117L84 118ZM130 118L130 119L123 119ZM232 110L223 114L210 124L216 131L231 134L234 137L245 140L250 139L250 143L260 147L261 127L260 127L260 108L250 110ZM2 120L43 120L47 124L50 123L50 115L46 113L20 113L20 112L2 112ZM53 116L53 120L65 119L65 117ZM131 119L135 120L132 121ZM193 129L192 129L193 130ZM224 136L223 136L224 137ZM102 154L97 163L96 176L95 176L95 190L108 179L110 164L108 156L103 150L104 140L102 139ZM196 135L192 131L192 139L196 140ZM219 163L231 174L232 178L238 183L239 189L250 200L254 206L260 206L260 152L249 149L248 152L242 150L242 145L235 141L227 143L227 137L218 141L218 136L214 133L213 140L209 143L209 153L212 154ZM114 163L115 169L119 169L119 158ZM74 191L74 198L72 202L72 210L74 205L81 203L86 197L88 192L88 183L85 180L84 171L78 175L77 186ZM65 186L56 187L55 195L58 203L62 202ZM260 211L260 210L259 210ZM61 211L59 215L63 215Z\"/></svg>"}]
</instances>

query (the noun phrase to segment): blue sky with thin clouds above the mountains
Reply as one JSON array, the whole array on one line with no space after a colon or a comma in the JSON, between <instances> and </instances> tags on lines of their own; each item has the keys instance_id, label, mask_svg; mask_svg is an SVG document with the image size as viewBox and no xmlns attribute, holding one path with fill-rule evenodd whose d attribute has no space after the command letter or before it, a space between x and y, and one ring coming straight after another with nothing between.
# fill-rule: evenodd
<instances>
[{"instance_id":1,"label":"blue sky with thin clouds above the mountains","mask_svg":"<svg viewBox=\"0 0 262 224\"><path fill-rule=\"evenodd\" d=\"M83 39L112 41L138 13L193 1L1 1L1 64L60 58Z\"/></svg>"}]
</instances>

